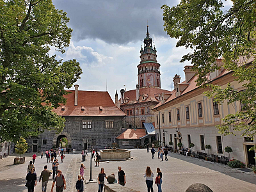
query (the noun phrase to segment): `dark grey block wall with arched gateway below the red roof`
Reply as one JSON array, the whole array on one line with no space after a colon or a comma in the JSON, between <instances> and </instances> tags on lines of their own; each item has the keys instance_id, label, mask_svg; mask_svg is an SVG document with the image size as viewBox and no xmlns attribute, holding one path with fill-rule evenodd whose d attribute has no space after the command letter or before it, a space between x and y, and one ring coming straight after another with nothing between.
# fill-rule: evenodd
<instances>
[{"instance_id":1,"label":"dark grey block wall with arched gateway below the red roof","mask_svg":"<svg viewBox=\"0 0 256 192\"><path fill-rule=\"evenodd\" d=\"M28 139L30 146L28 152L32 152L33 145L37 145L38 152L50 149L53 145L56 147L57 138L61 135L66 136L68 145L78 151L83 150L85 140L88 142L88 148L91 143L93 148L105 148L111 146L115 138L125 131L122 128L122 116L65 116L65 119L65 128L60 134L45 131L37 138ZM84 129L83 121L92 122L92 128ZM113 121L114 127L106 128L106 121ZM36 140L37 143L35 143ZM43 143L43 140L47 140L47 143Z\"/></svg>"}]
</instances>

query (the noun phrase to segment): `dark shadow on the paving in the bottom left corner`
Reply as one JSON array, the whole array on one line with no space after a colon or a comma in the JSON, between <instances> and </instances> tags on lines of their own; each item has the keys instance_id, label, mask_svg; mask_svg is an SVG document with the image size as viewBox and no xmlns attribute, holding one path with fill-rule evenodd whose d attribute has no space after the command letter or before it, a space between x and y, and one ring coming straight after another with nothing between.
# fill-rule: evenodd
<instances>
[{"instance_id":1,"label":"dark shadow on the paving in the bottom left corner","mask_svg":"<svg viewBox=\"0 0 256 192\"><path fill-rule=\"evenodd\" d=\"M25 187L26 179L18 178L18 179L4 179L0 180L0 191L23 191L27 189Z\"/></svg>"}]
</instances>

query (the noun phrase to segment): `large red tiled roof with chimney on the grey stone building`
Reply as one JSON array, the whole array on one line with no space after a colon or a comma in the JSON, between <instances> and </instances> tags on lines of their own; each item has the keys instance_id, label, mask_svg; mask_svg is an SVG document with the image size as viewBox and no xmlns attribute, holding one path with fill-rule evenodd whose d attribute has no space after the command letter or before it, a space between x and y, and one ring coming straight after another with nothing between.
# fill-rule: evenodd
<instances>
[{"instance_id":1,"label":"large red tiled roof with chimney on the grey stone building","mask_svg":"<svg viewBox=\"0 0 256 192\"><path fill-rule=\"evenodd\" d=\"M108 92L77 91L77 106L75 106L75 91L67 90L65 105L53 109L61 116L125 116L125 113L116 108ZM61 110L65 106L64 111ZM84 111L81 108L84 107ZM99 109L102 107L102 111Z\"/></svg>"}]
</instances>

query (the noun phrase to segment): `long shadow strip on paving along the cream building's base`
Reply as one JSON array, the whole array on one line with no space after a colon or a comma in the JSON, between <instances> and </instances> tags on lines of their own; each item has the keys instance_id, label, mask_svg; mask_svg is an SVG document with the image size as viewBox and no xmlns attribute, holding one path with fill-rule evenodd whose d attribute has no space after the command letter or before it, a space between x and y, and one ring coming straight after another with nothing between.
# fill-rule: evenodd
<instances>
[{"instance_id":1,"label":"long shadow strip on paving along the cream building's base","mask_svg":"<svg viewBox=\"0 0 256 192\"><path fill-rule=\"evenodd\" d=\"M245 182L250 182L251 184L256 184L256 175L251 175L250 173L243 173L234 168L230 168L227 165L220 163L212 163L210 161L204 161L202 159L194 158L194 157L186 157L184 155L169 153L168 156L173 157L175 159L180 159L182 161L186 161L188 163L193 163L198 166L203 166L205 168L209 168L216 172L223 173L230 177L234 177L239 180L243 180Z\"/></svg>"}]
</instances>

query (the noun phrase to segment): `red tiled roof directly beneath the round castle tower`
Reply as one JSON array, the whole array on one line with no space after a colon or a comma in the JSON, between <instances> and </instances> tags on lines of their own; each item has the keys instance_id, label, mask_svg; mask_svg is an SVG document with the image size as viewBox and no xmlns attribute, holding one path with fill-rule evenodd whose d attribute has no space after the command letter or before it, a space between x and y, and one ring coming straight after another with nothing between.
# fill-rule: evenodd
<instances>
[{"instance_id":1,"label":"red tiled roof directly beneath the round castle tower","mask_svg":"<svg viewBox=\"0 0 256 192\"><path fill-rule=\"evenodd\" d=\"M140 99L138 102L148 102L148 101L153 101L153 102L159 102L159 100L156 99L156 96L161 94L161 93L171 93L168 90L162 90L160 88L154 88L154 87L148 87L148 88L140 88ZM148 95L147 99L143 100L143 94ZM124 93L124 98L128 97L129 102L120 104L125 105L125 104L134 104L137 103L136 101L136 90L129 90Z\"/></svg>"}]
</instances>

